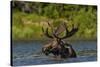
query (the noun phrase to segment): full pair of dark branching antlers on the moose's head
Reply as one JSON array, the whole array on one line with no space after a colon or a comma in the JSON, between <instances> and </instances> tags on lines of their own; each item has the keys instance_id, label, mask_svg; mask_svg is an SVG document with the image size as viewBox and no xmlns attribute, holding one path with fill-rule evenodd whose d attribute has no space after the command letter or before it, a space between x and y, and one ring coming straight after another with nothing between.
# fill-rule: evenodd
<instances>
[{"instance_id":1,"label":"full pair of dark branching antlers on the moose's head","mask_svg":"<svg viewBox=\"0 0 100 67\"><path fill-rule=\"evenodd\" d=\"M44 29L43 29L43 27L42 27L42 31L43 31L43 33L47 36L47 37L49 37L49 38L58 38L58 39L65 39L65 38L68 38L68 37L71 37L72 35L74 35L77 31L78 31L78 27L74 27L74 25L72 25L72 30L71 31L69 31L68 30L68 28L67 28L67 26L66 26L66 23L64 22L63 23L63 26L64 26L64 28L65 28L65 30L66 30L66 35L65 36L63 36L63 37L58 37L58 35L60 34L60 33L62 33L62 31L60 31L60 32L58 32L58 30L60 29L60 27L57 27L55 30L54 30L54 28L53 28L53 26L49 23L49 22L47 22L48 23L48 25L49 25L49 27L51 27L51 29L52 29L52 34L53 35L50 35L49 33L48 33L48 28L46 28L46 30L44 31ZM61 30L61 29L60 29Z\"/></svg>"}]
</instances>

